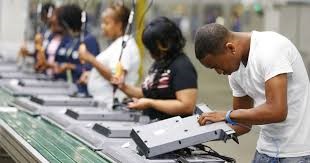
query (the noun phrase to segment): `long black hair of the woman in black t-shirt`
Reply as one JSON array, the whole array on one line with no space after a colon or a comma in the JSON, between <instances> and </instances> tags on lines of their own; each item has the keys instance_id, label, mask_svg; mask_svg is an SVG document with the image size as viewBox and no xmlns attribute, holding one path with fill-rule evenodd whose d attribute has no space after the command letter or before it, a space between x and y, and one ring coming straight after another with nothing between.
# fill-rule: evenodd
<instances>
[{"instance_id":1,"label":"long black hair of the woman in black t-shirt","mask_svg":"<svg viewBox=\"0 0 310 163\"><path fill-rule=\"evenodd\" d=\"M159 17L145 27L142 41L155 59L149 73L155 73L150 89L156 93L162 73L178 56L184 55L183 48L186 40L173 21L167 17Z\"/></svg>"}]
</instances>

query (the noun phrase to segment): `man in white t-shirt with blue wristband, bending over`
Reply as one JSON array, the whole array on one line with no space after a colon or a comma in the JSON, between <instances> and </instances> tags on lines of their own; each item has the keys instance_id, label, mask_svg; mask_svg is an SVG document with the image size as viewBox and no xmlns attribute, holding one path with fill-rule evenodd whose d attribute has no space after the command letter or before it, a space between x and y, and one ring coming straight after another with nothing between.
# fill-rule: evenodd
<instances>
[{"instance_id":1,"label":"man in white t-shirt with blue wristband, bending over","mask_svg":"<svg viewBox=\"0 0 310 163\"><path fill-rule=\"evenodd\" d=\"M198 122L226 121L238 135L261 125L254 163L310 162L310 84L296 47L275 32L201 27L197 59L229 75L233 110L204 113Z\"/></svg>"}]
</instances>

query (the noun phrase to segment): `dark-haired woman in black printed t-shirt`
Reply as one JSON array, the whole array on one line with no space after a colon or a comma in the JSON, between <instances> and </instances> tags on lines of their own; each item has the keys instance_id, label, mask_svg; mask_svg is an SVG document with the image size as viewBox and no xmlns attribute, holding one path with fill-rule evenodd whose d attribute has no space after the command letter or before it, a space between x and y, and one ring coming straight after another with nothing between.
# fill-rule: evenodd
<instances>
[{"instance_id":1,"label":"dark-haired woman in black printed t-shirt","mask_svg":"<svg viewBox=\"0 0 310 163\"><path fill-rule=\"evenodd\" d=\"M197 73L183 52L185 39L180 29L168 18L160 17L146 26L142 40L154 59L142 88L117 78L113 81L134 98L128 107L143 110L151 119L191 115L197 97Z\"/></svg>"}]
</instances>

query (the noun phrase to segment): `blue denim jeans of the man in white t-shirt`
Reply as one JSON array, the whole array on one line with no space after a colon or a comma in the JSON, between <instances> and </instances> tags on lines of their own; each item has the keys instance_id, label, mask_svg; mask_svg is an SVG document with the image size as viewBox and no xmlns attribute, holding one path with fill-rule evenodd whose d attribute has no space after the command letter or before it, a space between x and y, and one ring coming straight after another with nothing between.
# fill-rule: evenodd
<instances>
[{"instance_id":1,"label":"blue denim jeans of the man in white t-shirt","mask_svg":"<svg viewBox=\"0 0 310 163\"><path fill-rule=\"evenodd\" d=\"M275 158L256 151L252 163L310 163L310 155L300 157Z\"/></svg>"}]
</instances>

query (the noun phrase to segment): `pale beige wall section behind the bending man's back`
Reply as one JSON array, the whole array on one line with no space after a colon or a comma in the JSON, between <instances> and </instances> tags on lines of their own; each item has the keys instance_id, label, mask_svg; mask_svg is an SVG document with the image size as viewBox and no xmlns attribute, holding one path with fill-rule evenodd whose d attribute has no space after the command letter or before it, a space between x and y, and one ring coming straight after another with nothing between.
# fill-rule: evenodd
<instances>
[{"instance_id":1,"label":"pale beige wall section behind the bending man's back","mask_svg":"<svg viewBox=\"0 0 310 163\"><path fill-rule=\"evenodd\" d=\"M288 37L296 47L310 55L310 4L268 6L265 12L265 30L273 30Z\"/></svg>"}]
</instances>

